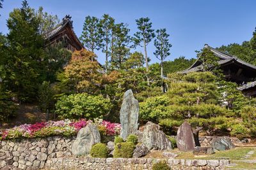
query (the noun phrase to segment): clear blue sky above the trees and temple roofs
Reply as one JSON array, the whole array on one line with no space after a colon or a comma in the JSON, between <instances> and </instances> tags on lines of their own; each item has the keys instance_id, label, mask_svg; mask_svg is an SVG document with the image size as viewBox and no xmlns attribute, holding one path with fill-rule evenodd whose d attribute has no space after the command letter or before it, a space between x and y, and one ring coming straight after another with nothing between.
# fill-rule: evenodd
<instances>
[{"instance_id":1,"label":"clear blue sky above the trees and temple roofs","mask_svg":"<svg viewBox=\"0 0 256 170\"><path fill-rule=\"evenodd\" d=\"M246 0L28 0L29 6L58 15L61 19L66 14L72 16L74 31L81 35L84 17L87 15L101 17L108 13L116 22L129 24L132 35L137 31L135 20L149 17L154 29L166 28L170 34L171 55L166 60L173 60L180 55L187 58L196 57L195 50L200 50L205 43L211 46L241 43L252 38L256 27L256 1ZM13 8L19 8L20 0L4 0L0 10L0 32L7 33L6 19ZM142 48L137 49L143 52ZM158 62L154 57L153 42L148 45L151 63ZM104 55L97 52L100 62Z\"/></svg>"}]
</instances>

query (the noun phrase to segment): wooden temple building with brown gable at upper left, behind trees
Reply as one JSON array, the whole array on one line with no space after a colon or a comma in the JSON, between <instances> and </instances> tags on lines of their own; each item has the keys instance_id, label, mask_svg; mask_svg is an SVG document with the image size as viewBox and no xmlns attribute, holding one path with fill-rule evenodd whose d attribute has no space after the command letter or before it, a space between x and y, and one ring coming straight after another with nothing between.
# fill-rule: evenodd
<instances>
[{"instance_id":1,"label":"wooden temple building with brown gable at upper left, behind trees","mask_svg":"<svg viewBox=\"0 0 256 170\"><path fill-rule=\"evenodd\" d=\"M64 48L72 52L84 48L73 30L73 21L71 20L70 15L66 15L62 19L61 24L48 32L45 35L45 39L47 40L45 47L62 44Z\"/></svg>"}]
</instances>

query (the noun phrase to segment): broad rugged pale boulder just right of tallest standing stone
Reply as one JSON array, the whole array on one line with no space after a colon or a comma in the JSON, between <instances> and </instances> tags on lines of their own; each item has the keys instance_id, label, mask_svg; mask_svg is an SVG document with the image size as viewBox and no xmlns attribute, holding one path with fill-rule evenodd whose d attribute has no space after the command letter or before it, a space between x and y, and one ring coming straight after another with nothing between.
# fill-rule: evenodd
<instances>
[{"instance_id":1,"label":"broad rugged pale boulder just right of tallest standing stone","mask_svg":"<svg viewBox=\"0 0 256 170\"><path fill-rule=\"evenodd\" d=\"M172 150L172 143L166 137L160 126L147 122L142 131L137 132L140 143L147 146L148 150Z\"/></svg>"}]
</instances>

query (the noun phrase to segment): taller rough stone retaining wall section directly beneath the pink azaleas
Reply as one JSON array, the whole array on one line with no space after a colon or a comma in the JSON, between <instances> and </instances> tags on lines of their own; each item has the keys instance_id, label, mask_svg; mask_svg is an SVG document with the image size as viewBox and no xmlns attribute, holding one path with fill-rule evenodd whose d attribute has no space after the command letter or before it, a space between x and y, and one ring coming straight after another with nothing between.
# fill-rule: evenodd
<instances>
[{"instance_id":1,"label":"taller rough stone retaining wall section directly beneath the pink azaleas","mask_svg":"<svg viewBox=\"0 0 256 170\"><path fill-rule=\"evenodd\" d=\"M0 141L0 169L40 169L47 159L71 156L75 136Z\"/></svg>"}]
</instances>

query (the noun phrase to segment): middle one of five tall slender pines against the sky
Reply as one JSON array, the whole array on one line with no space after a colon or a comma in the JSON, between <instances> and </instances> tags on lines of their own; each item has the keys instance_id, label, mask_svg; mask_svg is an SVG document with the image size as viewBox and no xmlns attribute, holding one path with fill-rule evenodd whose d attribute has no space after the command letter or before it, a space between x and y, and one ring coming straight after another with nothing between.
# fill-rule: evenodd
<instances>
[{"instance_id":1,"label":"middle one of five tall slender pines against the sky","mask_svg":"<svg viewBox=\"0 0 256 170\"><path fill-rule=\"evenodd\" d=\"M111 62L118 69L122 69L122 64L129 54L128 45L131 41L131 37L128 35L129 31L127 24L124 23L115 24L115 27L113 27L113 43L111 45L113 55Z\"/></svg>"}]
</instances>

